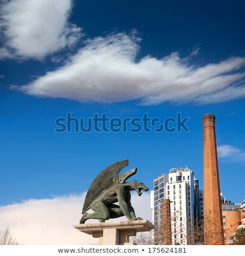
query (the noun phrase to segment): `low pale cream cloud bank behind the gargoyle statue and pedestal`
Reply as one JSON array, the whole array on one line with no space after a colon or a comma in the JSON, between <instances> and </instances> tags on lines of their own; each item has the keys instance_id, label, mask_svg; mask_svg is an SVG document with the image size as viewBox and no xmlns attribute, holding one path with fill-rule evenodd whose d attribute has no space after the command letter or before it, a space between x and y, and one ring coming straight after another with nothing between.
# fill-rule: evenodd
<instances>
[{"instance_id":1,"label":"low pale cream cloud bank behind the gargoyle statue and pedestal","mask_svg":"<svg viewBox=\"0 0 245 256\"><path fill-rule=\"evenodd\" d=\"M85 193L52 199L30 199L0 206L0 230L9 227L22 245L90 245L98 240L73 227L81 218ZM151 221L150 195L132 194L137 216ZM125 217L117 220L125 220ZM112 220L110 220L112 221ZM97 222L91 220L90 222Z\"/></svg>"}]
</instances>

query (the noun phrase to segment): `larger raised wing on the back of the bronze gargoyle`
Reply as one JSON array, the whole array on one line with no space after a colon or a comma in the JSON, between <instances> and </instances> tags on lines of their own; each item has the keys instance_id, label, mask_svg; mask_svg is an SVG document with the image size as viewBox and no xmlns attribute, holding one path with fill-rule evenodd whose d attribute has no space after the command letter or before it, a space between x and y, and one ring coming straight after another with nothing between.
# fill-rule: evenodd
<instances>
[{"instance_id":1,"label":"larger raised wing on the back of the bronze gargoyle","mask_svg":"<svg viewBox=\"0 0 245 256\"><path fill-rule=\"evenodd\" d=\"M88 211L91 208L91 204L98 196L100 196L103 191L105 191L114 182L119 182L119 172L126 166L128 166L128 159L111 164L97 175L97 177L90 185L88 193L85 197L82 214L84 214L84 212Z\"/></svg>"}]
</instances>

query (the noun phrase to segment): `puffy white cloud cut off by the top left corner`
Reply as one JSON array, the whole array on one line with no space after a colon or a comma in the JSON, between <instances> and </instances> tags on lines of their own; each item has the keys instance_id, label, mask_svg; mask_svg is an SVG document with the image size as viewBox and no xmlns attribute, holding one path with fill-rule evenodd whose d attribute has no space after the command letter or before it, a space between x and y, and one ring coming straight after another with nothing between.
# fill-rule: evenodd
<instances>
[{"instance_id":1,"label":"puffy white cloud cut off by the top left corner","mask_svg":"<svg viewBox=\"0 0 245 256\"><path fill-rule=\"evenodd\" d=\"M72 46L81 28L68 23L72 0L2 1L0 58L36 58Z\"/></svg>"}]
</instances>

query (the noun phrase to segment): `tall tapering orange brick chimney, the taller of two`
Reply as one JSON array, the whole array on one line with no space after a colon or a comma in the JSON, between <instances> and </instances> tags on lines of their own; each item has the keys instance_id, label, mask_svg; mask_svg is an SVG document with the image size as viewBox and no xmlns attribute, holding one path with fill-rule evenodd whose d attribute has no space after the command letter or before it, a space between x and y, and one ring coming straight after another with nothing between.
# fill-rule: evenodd
<instances>
[{"instance_id":1,"label":"tall tapering orange brick chimney, the taller of two","mask_svg":"<svg viewBox=\"0 0 245 256\"><path fill-rule=\"evenodd\" d=\"M216 117L214 114L205 114L202 118L204 131L203 161L205 245L224 245L215 119Z\"/></svg>"}]
</instances>

